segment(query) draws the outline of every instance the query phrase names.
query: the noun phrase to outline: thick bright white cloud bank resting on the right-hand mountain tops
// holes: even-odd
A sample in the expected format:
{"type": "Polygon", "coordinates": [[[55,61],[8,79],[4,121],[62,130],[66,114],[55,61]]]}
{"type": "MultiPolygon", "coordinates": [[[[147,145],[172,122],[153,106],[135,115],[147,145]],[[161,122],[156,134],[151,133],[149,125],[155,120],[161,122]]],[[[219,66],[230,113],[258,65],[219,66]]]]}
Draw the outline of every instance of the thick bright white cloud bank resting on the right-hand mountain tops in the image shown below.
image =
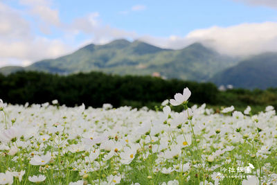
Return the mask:
{"type": "Polygon", "coordinates": [[[221,53],[249,55],[277,51],[277,23],[240,24],[227,28],[211,27],[195,30],[187,39],[202,41],[221,53]]]}

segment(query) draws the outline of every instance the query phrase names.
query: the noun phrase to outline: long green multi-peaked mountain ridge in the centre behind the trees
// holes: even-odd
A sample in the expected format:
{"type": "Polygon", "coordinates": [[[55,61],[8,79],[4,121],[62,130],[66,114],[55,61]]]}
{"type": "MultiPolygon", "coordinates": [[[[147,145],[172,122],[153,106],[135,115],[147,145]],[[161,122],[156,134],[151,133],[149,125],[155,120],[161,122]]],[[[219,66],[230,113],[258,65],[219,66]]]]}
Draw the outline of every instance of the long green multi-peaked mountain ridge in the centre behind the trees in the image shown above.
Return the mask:
{"type": "Polygon", "coordinates": [[[62,74],[103,71],[120,75],[157,72],[166,78],[205,81],[236,62],[237,59],[220,55],[199,43],[171,50],[118,39],[105,45],[89,44],[70,55],[35,62],[25,70],[62,74]]]}

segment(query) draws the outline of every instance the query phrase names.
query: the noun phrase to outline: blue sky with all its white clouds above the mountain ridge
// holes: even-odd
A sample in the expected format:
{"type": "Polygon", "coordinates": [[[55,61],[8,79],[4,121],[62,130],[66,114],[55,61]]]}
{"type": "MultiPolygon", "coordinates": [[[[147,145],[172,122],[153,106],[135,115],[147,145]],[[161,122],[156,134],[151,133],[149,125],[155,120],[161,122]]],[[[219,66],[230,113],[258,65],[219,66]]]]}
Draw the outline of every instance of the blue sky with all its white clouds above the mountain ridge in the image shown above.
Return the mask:
{"type": "Polygon", "coordinates": [[[0,1],[0,66],[27,65],[89,44],[141,39],[181,49],[202,42],[227,55],[276,51],[275,0],[0,1]],[[238,49],[239,48],[239,49],[238,49]]]}

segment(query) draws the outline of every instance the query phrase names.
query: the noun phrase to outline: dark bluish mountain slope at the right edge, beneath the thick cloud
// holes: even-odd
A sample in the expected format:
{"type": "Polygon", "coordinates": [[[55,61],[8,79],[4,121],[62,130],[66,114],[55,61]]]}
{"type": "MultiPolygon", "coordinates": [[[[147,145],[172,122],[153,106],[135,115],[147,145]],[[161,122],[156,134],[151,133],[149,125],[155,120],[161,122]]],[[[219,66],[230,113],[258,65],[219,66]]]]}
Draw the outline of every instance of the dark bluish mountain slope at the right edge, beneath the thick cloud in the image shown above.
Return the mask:
{"type": "Polygon", "coordinates": [[[263,53],[221,71],[211,82],[248,89],[277,87],[277,53],[263,53]]]}

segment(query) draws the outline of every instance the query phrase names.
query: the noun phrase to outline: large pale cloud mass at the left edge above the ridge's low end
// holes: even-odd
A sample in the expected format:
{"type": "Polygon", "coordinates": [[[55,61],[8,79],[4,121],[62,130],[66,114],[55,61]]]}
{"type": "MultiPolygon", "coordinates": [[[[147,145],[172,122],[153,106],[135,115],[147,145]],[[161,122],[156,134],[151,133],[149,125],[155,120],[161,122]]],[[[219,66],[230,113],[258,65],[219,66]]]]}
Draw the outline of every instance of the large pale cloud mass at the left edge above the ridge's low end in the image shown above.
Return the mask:
{"type": "Polygon", "coordinates": [[[35,35],[20,11],[0,2],[0,66],[30,64],[30,61],[55,58],[71,48],[58,39],[35,35]]]}

